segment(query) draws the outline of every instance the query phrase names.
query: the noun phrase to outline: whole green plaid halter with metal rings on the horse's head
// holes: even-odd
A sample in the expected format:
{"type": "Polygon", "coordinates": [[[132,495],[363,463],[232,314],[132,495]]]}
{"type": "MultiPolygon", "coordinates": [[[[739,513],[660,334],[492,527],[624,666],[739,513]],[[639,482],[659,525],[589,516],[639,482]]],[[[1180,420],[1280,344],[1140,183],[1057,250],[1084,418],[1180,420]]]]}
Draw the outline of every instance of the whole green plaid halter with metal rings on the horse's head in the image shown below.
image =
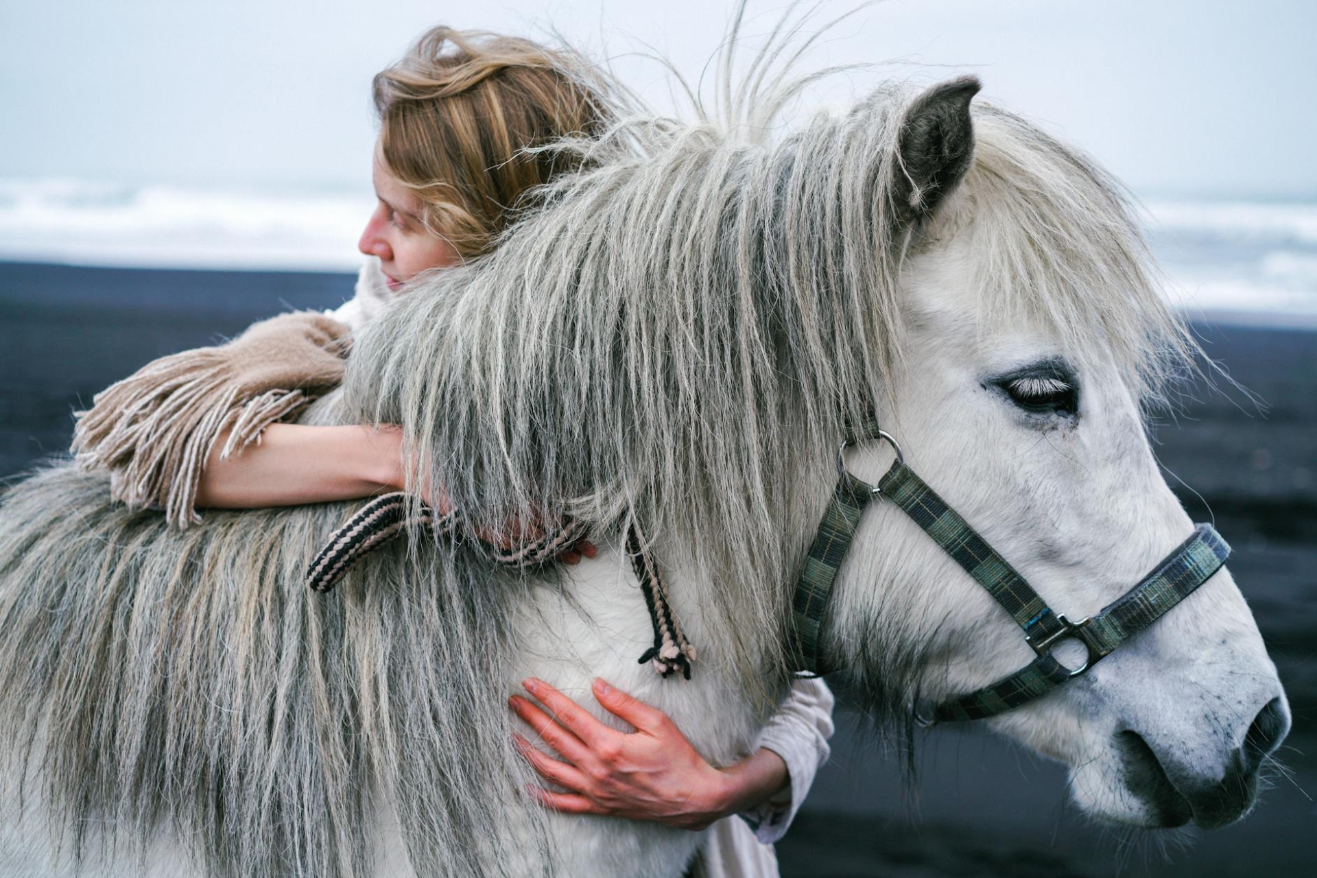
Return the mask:
{"type": "Polygon", "coordinates": [[[1160,619],[1206,582],[1230,554],[1230,546],[1209,524],[1198,524],[1179,549],[1152,573],[1096,616],[1072,623],[1052,612],[1019,573],[905,465],[901,446],[869,419],[855,438],[842,442],[836,458],[838,484],[814,534],[805,569],[792,599],[795,658],[809,674],[827,673],[820,654],[822,623],[838,569],[846,557],[865,507],[881,495],[896,503],[951,555],[1025,631],[1025,642],[1038,654],[1030,665],[996,683],[940,704],[917,706],[921,725],[996,716],[1042,698],[1062,683],[1084,674],[1122,641],[1160,619]],[[846,469],[846,449],[867,438],[882,440],[896,450],[896,461],[877,486],[846,469]],[[1077,640],[1087,650],[1084,663],[1067,667],[1052,657],[1063,640],[1077,640]]]}

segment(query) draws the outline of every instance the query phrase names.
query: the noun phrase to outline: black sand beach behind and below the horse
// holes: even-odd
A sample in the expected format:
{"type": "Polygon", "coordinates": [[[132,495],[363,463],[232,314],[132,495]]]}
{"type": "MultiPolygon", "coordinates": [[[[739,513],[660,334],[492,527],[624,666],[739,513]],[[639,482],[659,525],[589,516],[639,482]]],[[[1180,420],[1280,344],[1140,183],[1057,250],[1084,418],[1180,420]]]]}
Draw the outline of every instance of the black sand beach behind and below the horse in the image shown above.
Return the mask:
{"type": "MultiPolygon", "coordinates": [[[[63,454],[70,412],[162,354],[254,319],[329,308],[350,276],[71,269],[0,262],[0,478],[63,454]]],[[[1295,713],[1293,782],[1247,820],[1167,841],[1093,827],[1063,771],[982,729],[923,736],[918,781],[843,710],[834,758],[778,846],[784,875],[1317,875],[1317,332],[1198,325],[1210,355],[1266,400],[1198,388],[1159,455],[1196,520],[1214,515],[1295,713]],[[1210,509],[1210,511],[1209,511],[1210,509]],[[1304,790],[1308,792],[1305,794],[1304,790]]]]}

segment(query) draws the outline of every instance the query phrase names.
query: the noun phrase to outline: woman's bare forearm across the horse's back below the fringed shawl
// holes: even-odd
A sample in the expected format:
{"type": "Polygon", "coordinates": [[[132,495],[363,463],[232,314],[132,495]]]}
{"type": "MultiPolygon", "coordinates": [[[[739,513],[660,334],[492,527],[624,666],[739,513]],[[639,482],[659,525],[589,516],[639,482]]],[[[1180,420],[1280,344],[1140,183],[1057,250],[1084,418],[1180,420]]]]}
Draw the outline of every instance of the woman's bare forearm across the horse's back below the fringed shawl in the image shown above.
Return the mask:
{"type": "Polygon", "coordinates": [[[402,430],[395,426],[270,424],[259,444],[221,457],[227,441],[221,434],[202,471],[199,507],[329,503],[403,487],[402,430]]]}

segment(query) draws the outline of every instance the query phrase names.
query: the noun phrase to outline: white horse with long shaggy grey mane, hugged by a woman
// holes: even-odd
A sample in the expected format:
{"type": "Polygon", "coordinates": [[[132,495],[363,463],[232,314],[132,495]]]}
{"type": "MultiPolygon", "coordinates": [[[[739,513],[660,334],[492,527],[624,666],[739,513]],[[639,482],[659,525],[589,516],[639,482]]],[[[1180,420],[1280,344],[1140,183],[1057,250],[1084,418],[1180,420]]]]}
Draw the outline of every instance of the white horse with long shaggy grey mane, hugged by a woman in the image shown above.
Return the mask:
{"type": "MultiPolygon", "coordinates": [[[[358,340],[309,417],[402,424],[471,528],[564,508],[608,544],[643,524],[699,650],[689,681],[636,662],[651,627],[615,538],[536,575],[416,538],[321,596],[304,569],[344,505],[176,533],[70,467],[9,491],[0,871],[681,875],[698,833],[519,798],[504,699],[533,674],[593,704],[601,675],[714,763],[741,756],[789,681],[838,442],[871,408],[1052,607],[1123,594],[1191,532],[1141,407],[1192,344],[1115,186],[976,91],[884,87],[776,143],[651,120],[586,145],[494,255],[358,340]]],[[[897,728],[1033,657],[882,500],[823,634],[897,728]]],[[[989,724],[1067,763],[1084,813],[1216,827],[1251,808],[1289,717],[1221,570],[989,724]]]]}

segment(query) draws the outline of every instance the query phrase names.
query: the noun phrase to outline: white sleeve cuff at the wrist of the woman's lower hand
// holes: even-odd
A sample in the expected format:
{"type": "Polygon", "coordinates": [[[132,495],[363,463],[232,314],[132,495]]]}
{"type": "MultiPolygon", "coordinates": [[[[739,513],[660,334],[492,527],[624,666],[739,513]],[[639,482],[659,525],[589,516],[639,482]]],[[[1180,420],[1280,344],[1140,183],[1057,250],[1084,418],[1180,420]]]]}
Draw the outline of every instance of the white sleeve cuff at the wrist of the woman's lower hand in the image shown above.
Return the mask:
{"type": "Polygon", "coordinates": [[[786,835],[814,785],[814,774],[827,762],[832,704],[832,691],[823,681],[798,679],[755,741],[755,749],[765,748],[782,757],[790,775],[790,785],[781,799],[770,799],[740,815],[764,844],[773,844],[786,835]]]}

